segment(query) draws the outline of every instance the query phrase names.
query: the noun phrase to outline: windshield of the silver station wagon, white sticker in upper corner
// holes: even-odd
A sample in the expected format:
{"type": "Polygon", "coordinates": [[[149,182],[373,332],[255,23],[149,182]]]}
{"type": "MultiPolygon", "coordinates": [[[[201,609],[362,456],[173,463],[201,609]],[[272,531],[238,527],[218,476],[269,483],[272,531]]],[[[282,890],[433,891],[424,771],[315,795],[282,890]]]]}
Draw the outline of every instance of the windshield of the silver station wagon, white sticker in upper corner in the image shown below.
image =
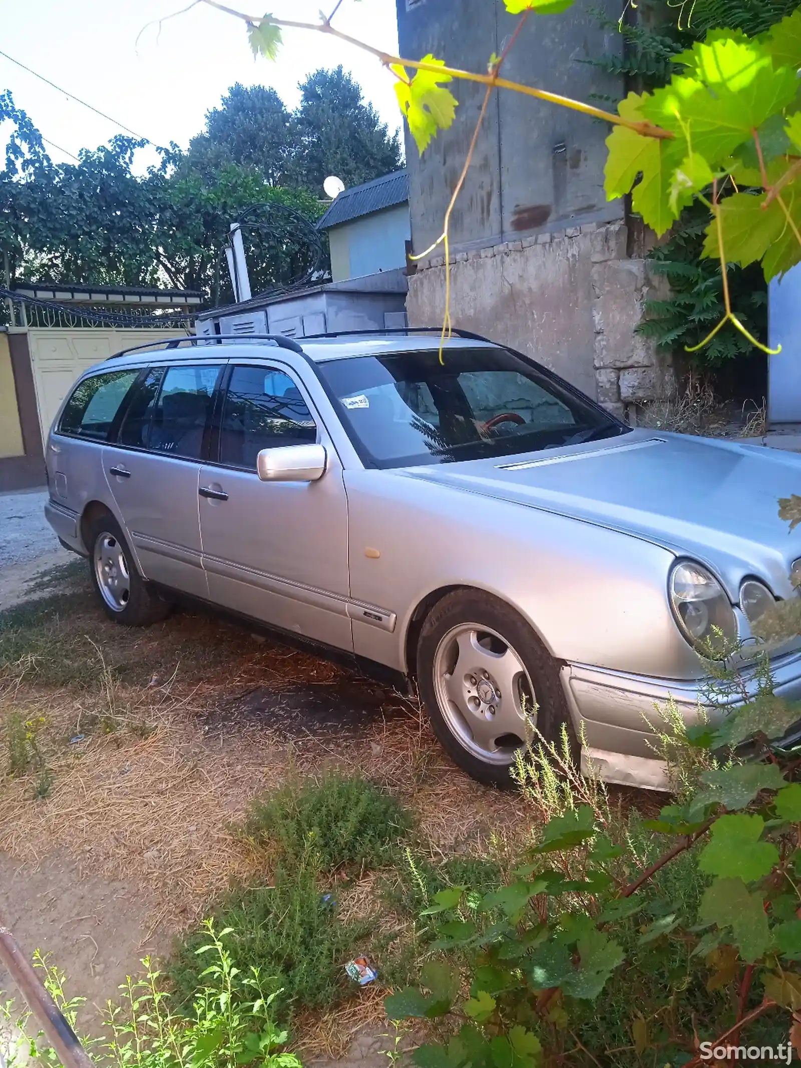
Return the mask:
{"type": "Polygon", "coordinates": [[[317,366],[368,467],[509,456],[625,434],[581,394],[503,348],[362,356],[317,366]]]}

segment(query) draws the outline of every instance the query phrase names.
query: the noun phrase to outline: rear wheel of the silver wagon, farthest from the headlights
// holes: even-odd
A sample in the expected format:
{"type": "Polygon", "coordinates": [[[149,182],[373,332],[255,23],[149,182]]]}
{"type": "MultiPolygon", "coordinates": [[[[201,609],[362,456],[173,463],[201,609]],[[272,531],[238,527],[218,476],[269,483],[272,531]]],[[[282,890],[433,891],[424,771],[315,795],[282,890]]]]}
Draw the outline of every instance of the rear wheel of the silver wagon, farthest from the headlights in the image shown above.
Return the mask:
{"type": "Polygon", "coordinates": [[[87,544],[92,583],[110,619],[126,627],[147,627],[170,613],[170,602],[139,574],[111,513],[93,520],[87,544]]]}

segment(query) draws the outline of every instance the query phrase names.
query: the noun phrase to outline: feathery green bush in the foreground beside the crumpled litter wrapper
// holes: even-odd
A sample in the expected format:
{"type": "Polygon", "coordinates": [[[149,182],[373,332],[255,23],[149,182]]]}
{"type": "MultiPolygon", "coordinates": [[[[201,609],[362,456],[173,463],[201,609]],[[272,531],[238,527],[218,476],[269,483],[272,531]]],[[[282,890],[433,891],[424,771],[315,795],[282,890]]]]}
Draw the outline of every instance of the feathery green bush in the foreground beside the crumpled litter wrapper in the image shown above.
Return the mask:
{"type": "MultiPolygon", "coordinates": [[[[237,960],[269,980],[282,1020],[299,1007],[328,1006],[347,994],[344,965],[371,926],[339,918],[335,892],[329,896],[310,859],[292,869],[280,867],[272,886],[234,891],[216,910],[214,923],[231,929],[237,960]]],[[[170,968],[184,1010],[201,985],[204,964],[197,954],[205,941],[204,929],[185,937],[170,968]]]]}

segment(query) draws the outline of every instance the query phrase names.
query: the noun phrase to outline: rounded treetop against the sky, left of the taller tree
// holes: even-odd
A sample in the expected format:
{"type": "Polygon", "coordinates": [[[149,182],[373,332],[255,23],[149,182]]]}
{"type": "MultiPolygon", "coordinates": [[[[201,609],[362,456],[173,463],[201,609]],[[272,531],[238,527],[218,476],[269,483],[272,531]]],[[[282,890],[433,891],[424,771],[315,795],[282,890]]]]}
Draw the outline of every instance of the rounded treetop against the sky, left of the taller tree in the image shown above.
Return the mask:
{"type": "Polygon", "coordinates": [[[225,163],[255,167],[268,184],[287,184],[293,145],[290,115],[274,89],[232,85],[206,112],[206,129],[189,142],[189,162],[207,174],[225,163]]]}

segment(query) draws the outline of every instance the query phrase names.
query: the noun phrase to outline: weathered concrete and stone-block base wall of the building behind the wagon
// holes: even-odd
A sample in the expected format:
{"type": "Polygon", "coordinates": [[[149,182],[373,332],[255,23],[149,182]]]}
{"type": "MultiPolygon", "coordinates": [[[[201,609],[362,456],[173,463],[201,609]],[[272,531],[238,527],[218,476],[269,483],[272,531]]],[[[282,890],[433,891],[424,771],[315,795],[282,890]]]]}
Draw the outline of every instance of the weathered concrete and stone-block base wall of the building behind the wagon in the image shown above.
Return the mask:
{"type": "MultiPolygon", "coordinates": [[[[527,352],[610,411],[662,398],[670,361],[634,333],[646,299],[662,295],[646,261],[626,254],[623,222],[590,223],[458,252],[451,264],[451,319],[527,352]]],[[[409,278],[410,326],[438,326],[444,257],[409,278]]]]}

